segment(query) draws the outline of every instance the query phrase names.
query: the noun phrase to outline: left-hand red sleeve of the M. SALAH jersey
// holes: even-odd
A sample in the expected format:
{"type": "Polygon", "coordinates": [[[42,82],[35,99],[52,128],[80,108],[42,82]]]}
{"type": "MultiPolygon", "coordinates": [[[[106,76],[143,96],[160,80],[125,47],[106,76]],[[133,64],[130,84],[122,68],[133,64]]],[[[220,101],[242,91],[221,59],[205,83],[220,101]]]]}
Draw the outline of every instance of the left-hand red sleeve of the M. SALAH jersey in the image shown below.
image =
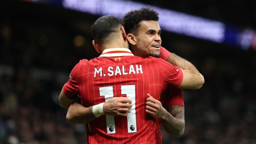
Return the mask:
{"type": "Polygon", "coordinates": [[[73,70],[70,73],[69,80],[67,83],[65,83],[63,87],[63,91],[65,96],[72,100],[79,94],[79,71],[80,71],[80,65],[84,62],[88,61],[86,59],[80,60],[78,64],[73,68],[73,70]]]}

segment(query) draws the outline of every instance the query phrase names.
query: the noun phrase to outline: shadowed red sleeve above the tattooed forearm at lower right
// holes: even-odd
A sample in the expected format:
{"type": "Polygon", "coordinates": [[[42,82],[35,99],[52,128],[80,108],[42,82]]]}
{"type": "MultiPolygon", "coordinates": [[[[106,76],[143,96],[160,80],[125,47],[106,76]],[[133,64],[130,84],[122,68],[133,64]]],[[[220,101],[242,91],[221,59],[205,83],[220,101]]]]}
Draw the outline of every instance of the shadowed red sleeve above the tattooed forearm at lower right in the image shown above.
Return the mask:
{"type": "Polygon", "coordinates": [[[164,107],[167,108],[172,105],[184,106],[183,89],[182,88],[168,86],[168,92],[167,92],[164,107]]]}

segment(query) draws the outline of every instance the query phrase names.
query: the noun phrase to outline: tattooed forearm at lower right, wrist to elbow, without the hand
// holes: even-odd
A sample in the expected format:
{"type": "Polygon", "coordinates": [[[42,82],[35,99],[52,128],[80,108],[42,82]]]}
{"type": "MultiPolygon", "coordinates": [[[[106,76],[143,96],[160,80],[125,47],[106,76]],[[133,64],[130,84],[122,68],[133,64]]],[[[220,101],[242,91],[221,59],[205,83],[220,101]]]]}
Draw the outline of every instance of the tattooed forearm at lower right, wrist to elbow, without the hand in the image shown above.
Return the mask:
{"type": "Polygon", "coordinates": [[[166,109],[164,118],[160,118],[164,129],[171,135],[180,137],[184,133],[185,118],[184,106],[173,105],[166,109]]]}

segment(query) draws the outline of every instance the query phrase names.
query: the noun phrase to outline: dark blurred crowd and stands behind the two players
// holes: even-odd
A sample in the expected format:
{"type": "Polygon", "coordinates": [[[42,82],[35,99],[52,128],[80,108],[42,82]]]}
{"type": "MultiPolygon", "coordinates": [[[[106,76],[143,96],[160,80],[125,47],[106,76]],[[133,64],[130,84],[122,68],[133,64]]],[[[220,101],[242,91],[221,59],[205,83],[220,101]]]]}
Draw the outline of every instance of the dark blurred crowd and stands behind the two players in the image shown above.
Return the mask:
{"type": "MultiPolygon", "coordinates": [[[[147,2],[256,28],[253,0],[178,1],[147,2]]],[[[87,144],[85,125],[67,124],[58,97],[73,66],[99,56],[90,32],[98,17],[19,0],[1,0],[0,12],[0,144],[87,144]]],[[[184,135],[161,129],[163,144],[256,144],[256,51],[165,31],[161,38],[205,77],[201,89],[183,91],[184,135]]]]}

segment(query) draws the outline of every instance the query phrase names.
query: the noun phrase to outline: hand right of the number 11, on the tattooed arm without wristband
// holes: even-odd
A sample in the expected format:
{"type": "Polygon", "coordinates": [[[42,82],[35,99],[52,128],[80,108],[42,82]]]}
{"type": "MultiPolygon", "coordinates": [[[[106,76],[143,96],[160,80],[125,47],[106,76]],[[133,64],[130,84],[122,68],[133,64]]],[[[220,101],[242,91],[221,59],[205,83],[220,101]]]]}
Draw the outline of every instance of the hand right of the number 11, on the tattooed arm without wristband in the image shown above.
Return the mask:
{"type": "Polygon", "coordinates": [[[146,113],[153,116],[154,118],[160,118],[164,116],[167,112],[163,107],[160,101],[154,99],[152,96],[147,94],[146,99],[146,113]]]}

